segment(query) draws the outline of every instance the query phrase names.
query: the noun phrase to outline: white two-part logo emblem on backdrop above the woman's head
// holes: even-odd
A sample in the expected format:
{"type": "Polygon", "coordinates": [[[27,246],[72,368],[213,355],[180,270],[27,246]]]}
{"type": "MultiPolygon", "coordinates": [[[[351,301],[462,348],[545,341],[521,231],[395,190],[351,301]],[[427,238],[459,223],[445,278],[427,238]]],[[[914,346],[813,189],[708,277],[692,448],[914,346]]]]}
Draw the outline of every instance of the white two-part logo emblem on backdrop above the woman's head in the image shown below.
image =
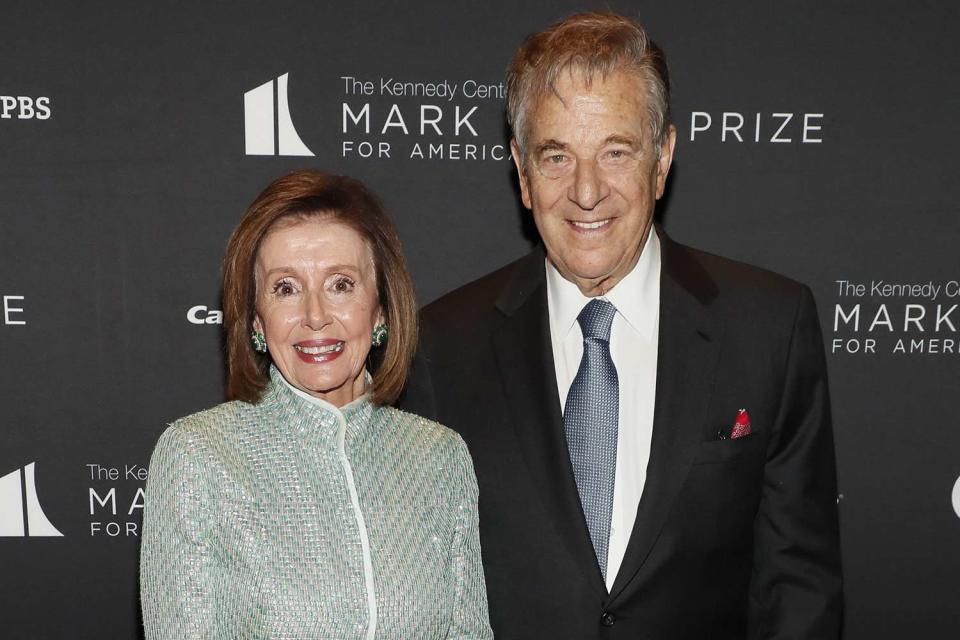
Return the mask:
{"type": "Polygon", "coordinates": [[[290,119],[287,76],[277,77],[243,94],[243,125],[248,156],[312,156],[290,119]],[[274,95],[277,109],[274,111],[274,95]],[[276,125],[276,139],[274,138],[276,125]]]}

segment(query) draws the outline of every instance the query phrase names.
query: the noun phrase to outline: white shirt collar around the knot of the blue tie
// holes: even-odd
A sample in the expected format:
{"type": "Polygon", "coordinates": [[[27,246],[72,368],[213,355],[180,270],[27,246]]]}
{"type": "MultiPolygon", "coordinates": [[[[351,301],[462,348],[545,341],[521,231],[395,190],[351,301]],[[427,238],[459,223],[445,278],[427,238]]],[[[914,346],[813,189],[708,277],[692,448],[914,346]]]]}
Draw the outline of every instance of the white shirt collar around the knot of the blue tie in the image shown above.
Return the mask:
{"type": "MultiPolygon", "coordinates": [[[[590,302],[577,285],[565,279],[549,258],[547,269],[547,304],[550,318],[560,337],[566,337],[577,316],[590,302]]],[[[653,227],[640,252],[637,264],[606,295],[627,324],[641,337],[652,340],[657,324],[660,301],[660,239],[653,227]]]]}

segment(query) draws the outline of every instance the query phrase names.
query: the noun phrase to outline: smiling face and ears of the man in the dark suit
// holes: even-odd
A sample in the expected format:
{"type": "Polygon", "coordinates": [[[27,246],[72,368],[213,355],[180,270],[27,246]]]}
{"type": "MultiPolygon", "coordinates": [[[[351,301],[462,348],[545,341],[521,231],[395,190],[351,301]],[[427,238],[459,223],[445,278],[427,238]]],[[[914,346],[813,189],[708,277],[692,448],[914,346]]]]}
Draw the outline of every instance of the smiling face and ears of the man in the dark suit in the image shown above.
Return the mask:
{"type": "Polygon", "coordinates": [[[658,159],[646,88],[634,73],[597,77],[589,87],[579,74],[563,74],[555,88],[530,114],[526,158],[511,144],[520,192],[560,274],[585,295],[602,295],[640,258],[676,131],[670,127],[658,159]]]}

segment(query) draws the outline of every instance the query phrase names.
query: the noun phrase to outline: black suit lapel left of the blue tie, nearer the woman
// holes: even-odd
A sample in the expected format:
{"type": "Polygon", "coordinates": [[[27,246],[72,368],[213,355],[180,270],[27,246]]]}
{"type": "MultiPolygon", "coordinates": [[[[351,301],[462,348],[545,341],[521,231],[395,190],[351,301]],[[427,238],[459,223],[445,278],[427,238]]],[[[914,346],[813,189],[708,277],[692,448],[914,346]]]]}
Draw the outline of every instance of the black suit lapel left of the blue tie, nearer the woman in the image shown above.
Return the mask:
{"type": "Polygon", "coordinates": [[[563,431],[542,250],[518,265],[497,308],[506,319],[493,333],[493,349],[520,452],[566,551],[598,595],[605,595],[563,431]]]}

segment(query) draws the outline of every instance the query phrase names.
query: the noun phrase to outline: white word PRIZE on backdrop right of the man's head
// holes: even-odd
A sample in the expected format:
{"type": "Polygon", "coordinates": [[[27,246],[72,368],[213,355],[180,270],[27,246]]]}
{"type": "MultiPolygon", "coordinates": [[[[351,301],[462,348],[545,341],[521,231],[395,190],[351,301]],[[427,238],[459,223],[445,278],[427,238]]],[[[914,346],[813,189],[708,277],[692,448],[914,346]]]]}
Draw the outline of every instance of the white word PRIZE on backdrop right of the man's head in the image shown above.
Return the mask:
{"type": "Polygon", "coordinates": [[[706,111],[690,114],[690,142],[697,134],[720,142],[781,143],[823,142],[822,113],[739,113],[724,111],[711,115],[706,111]],[[712,135],[710,135],[712,134],[712,135]]]}

